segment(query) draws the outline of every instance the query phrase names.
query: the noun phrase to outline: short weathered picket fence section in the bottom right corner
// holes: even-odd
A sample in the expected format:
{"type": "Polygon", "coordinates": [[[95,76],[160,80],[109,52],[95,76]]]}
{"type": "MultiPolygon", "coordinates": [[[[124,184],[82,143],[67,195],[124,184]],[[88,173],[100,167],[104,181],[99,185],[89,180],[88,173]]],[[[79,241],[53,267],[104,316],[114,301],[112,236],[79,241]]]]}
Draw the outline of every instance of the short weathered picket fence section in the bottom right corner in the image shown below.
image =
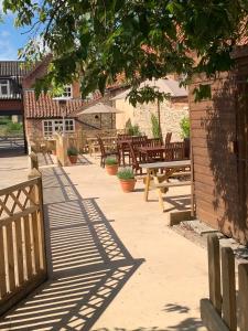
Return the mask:
{"type": "Polygon", "coordinates": [[[235,256],[230,247],[222,247],[216,235],[209,235],[209,299],[201,300],[201,316],[209,331],[248,330],[248,264],[238,266],[238,300],[236,300],[235,256]],[[222,268],[220,268],[222,265],[222,268]],[[222,273],[220,273],[222,269],[222,273]],[[237,301],[237,302],[236,302],[237,301]],[[238,307],[238,313],[237,313],[238,307]]]}

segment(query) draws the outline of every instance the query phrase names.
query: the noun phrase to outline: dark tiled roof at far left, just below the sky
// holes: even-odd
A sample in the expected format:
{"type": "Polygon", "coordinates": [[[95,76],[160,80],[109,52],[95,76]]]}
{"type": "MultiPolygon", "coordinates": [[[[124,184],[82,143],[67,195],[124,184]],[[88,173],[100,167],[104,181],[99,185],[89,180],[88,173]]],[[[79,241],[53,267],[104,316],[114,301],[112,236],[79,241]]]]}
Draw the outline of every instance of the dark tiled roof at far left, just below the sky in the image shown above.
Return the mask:
{"type": "Polygon", "coordinates": [[[0,61],[0,77],[25,76],[28,72],[24,61],[0,61]]]}

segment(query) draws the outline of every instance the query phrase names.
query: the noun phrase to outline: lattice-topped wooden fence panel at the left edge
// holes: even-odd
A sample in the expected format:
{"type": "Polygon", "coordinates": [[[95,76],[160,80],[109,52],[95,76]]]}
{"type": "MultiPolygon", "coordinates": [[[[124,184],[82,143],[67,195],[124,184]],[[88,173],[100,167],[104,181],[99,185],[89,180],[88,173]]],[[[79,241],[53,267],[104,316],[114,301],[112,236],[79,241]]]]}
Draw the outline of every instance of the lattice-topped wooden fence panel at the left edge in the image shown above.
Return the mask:
{"type": "Polygon", "coordinates": [[[46,279],[42,180],[0,190],[0,314],[46,279]]]}

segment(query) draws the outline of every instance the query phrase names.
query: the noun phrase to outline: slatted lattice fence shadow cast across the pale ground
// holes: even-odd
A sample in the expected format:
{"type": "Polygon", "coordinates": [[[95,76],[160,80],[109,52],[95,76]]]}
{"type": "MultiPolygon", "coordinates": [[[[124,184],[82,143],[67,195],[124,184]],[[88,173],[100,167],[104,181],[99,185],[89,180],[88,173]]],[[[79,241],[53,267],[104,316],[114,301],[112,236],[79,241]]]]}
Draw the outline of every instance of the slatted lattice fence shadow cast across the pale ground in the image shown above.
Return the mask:
{"type": "Polygon", "coordinates": [[[90,330],[142,263],[62,168],[42,170],[48,281],[0,322],[0,330],[90,330]]]}

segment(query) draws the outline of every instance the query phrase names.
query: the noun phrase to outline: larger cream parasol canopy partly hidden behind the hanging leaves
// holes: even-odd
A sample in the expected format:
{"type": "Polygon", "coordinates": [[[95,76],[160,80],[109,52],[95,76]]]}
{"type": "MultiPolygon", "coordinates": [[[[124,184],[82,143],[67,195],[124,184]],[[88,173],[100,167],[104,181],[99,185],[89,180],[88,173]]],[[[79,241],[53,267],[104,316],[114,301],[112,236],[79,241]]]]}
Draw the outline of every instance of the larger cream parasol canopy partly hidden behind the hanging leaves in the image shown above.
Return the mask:
{"type": "MultiPolygon", "coordinates": [[[[159,92],[161,93],[169,93],[172,97],[186,97],[187,90],[184,87],[180,86],[180,82],[174,79],[152,79],[145,81],[140,84],[140,87],[150,86],[150,87],[158,87],[159,92]]],[[[112,98],[112,100],[123,99],[127,97],[131,89],[127,89],[123,93],[118,94],[112,98]]]]}

